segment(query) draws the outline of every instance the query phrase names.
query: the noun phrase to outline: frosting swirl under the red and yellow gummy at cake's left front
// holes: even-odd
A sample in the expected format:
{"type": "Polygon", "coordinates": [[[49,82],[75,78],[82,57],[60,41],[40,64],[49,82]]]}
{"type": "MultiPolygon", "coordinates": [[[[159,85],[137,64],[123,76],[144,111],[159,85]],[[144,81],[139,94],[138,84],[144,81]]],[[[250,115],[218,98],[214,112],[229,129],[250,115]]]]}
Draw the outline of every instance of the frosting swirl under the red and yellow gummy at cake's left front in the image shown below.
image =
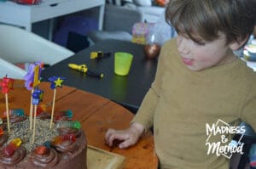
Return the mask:
{"type": "Polygon", "coordinates": [[[22,161],[22,159],[26,156],[26,149],[23,146],[20,146],[15,150],[14,155],[5,155],[3,153],[3,149],[1,149],[0,153],[0,162],[7,166],[13,166],[18,162],[22,161]]]}

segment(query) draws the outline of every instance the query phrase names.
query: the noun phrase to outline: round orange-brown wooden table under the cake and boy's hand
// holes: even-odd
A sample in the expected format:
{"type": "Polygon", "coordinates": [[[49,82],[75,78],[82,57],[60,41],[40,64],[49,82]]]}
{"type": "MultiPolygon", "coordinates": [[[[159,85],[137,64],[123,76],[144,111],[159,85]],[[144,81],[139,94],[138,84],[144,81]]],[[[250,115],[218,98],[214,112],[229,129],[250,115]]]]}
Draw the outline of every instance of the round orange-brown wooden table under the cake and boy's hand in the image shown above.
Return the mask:
{"type": "MultiPolygon", "coordinates": [[[[47,110],[50,112],[53,90],[49,88],[49,82],[41,82],[39,87],[44,90],[42,104],[49,105],[47,110]]],[[[24,109],[26,113],[29,112],[30,94],[31,92],[24,87],[23,81],[15,81],[15,90],[9,92],[9,109],[24,109]]],[[[73,110],[73,119],[81,122],[88,144],[124,155],[125,169],[157,168],[158,159],[154,154],[151,132],[146,132],[140,141],[129,149],[110,148],[105,144],[104,135],[109,127],[122,129],[129,126],[133,117],[129,110],[109,99],[67,86],[57,88],[55,111],[61,110],[73,110]]],[[[0,111],[5,111],[5,98],[2,93],[0,111]]]]}

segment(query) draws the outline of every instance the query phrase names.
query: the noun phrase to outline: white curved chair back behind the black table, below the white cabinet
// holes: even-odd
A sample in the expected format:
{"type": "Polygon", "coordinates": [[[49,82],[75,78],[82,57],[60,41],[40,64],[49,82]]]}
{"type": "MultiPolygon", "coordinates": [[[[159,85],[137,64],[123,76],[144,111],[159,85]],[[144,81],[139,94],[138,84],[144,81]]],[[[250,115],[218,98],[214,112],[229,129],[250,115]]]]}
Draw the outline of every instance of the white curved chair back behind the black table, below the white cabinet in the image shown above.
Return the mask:
{"type": "Polygon", "coordinates": [[[12,64],[42,61],[54,65],[73,54],[67,48],[32,32],[11,25],[0,25],[0,57],[12,64]]]}

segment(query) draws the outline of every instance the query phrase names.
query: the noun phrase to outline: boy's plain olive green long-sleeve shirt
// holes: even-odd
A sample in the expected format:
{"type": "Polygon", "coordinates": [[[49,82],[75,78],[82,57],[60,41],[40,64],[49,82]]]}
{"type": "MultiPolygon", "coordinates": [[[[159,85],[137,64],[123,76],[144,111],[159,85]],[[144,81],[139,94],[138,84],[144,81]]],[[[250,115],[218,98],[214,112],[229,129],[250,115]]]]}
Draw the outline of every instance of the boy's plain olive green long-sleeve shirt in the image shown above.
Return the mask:
{"type": "MultiPolygon", "coordinates": [[[[245,62],[236,59],[206,70],[189,70],[173,39],[162,47],[154,82],[132,122],[154,126],[161,168],[228,169],[226,154],[211,151],[208,155],[206,143],[228,144],[234,133],[210,136],[207,124],[212,127],[221,120],[236,127],[245,121],[256,128],[255,113],[256,74],[245,62]]],[[[216,126],[227,127],[224,122],[216,126]]]]}

